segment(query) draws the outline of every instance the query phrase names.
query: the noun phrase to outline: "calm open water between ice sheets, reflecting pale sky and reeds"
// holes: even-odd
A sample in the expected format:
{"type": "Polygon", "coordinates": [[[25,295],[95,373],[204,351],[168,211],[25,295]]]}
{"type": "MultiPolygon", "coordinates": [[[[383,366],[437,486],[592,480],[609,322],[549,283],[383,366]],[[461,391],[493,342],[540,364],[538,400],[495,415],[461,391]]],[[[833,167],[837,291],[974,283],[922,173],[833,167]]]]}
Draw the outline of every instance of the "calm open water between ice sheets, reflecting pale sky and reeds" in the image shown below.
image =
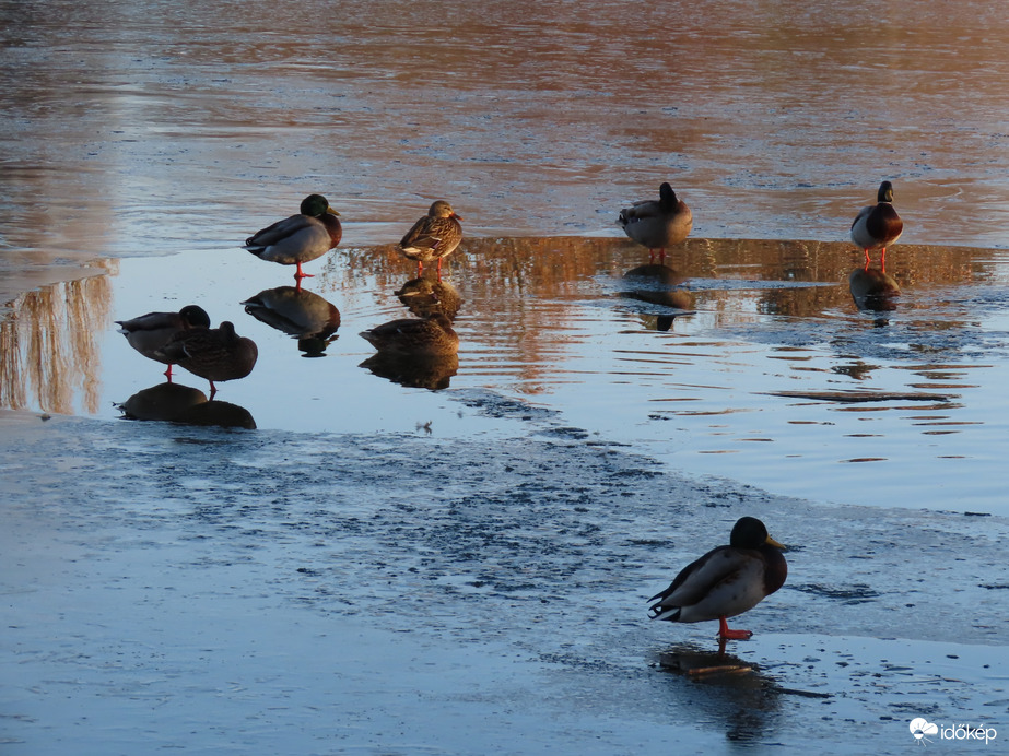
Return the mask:
{"type": "MultiPolygon", "coordinates": [[[[260,428],[493,434],[506,421],[467,407],[492,390],[673,470],[823,501],[1009,512],[1004,253],[897,247],[887,310],[856,307],[847,245],[694,239],[667,259],[671,291],[625,277],[647,257],[615,239],[474,239],[438,282],[411,279],[389,247],[340,249],[307,267],[302,298],[339,310],[312,346],[240,304],[292,294],[289,269],[239,249],[121,260],[22,302],[3,326],[0,399],[119,417],[163,367],[110,321],[195,303],[257,342],[253,375],[216,398],[260,428]],[[403,300],[454,314],[457,361],[369,369],[357,334],[411,315],[403,300]]],[[[209,391],[185,371],[176,382],[209,391]]]]}

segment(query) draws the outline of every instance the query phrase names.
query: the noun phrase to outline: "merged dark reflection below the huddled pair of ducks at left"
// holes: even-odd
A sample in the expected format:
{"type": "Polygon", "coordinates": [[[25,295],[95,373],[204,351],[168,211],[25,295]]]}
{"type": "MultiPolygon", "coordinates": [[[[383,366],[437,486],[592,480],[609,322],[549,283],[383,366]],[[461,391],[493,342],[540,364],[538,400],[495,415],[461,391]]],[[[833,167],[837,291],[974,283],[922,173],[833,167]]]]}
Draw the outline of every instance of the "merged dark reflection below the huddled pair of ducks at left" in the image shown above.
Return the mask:
{"type": "Polygon", "coordinates": [[[159,383],[142,389],[118,405],[127,420],[162,421],[255,429],[256,421],[243,406],[208,400],[199,389],[180,383],[159,383]]]}

